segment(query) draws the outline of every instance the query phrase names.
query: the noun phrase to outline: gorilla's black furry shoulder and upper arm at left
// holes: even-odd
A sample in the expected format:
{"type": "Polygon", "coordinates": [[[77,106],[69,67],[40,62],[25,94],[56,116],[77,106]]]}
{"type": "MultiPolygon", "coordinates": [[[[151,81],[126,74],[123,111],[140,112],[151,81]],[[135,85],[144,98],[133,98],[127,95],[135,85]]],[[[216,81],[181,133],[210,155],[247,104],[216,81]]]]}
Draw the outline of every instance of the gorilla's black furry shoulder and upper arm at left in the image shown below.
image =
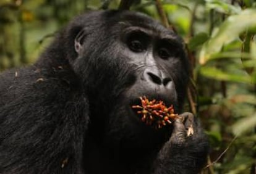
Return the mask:
{"type": "Polygon", "coordinates": [[[67,75],[35,67],[2,74],[0,173],[82,173],[88,104],[67,75]]]}

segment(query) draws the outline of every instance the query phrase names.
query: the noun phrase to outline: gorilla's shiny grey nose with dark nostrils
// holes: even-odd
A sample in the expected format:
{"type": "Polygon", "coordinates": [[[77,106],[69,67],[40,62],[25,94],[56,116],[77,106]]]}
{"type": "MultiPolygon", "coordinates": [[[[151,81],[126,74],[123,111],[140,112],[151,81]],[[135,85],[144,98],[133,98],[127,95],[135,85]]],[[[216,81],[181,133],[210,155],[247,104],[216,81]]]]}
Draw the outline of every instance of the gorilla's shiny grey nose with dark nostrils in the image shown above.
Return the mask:
{"type": "Polygon", "coordinates": [[[160,72],[159,70],[145,70],[143,74],[144,78],[148,83],[151,83],[152,85],[163,85],[164,88],[171,88],[171,78],[165,77],[163,72],[160,72]]]}

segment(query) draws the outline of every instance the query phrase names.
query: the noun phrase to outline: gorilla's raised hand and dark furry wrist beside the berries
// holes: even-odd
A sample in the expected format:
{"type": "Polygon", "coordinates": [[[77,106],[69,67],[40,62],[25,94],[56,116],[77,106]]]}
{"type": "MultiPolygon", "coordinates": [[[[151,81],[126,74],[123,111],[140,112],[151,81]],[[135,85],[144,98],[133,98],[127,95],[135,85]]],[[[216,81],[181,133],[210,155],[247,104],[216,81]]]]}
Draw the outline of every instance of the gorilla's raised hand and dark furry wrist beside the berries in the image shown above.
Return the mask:
{"type": "Polygon", "coordinates": [[[153,173],[198,173],[208,152],[207,138],[193,114],[179,115],[173,133],[158,153],[153,173]]]}

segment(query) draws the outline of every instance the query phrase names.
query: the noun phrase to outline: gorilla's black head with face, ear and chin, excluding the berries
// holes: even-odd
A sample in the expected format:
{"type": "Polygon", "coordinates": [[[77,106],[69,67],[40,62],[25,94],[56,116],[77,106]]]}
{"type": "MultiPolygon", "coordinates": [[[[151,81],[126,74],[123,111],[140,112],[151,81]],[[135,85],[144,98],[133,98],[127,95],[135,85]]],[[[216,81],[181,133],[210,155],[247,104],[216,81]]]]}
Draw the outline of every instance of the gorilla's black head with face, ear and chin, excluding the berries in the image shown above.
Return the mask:
{"type": "Polygon", "coordinates": [[[159,144],[168,129],[146,126],[131,106],[147,96],[181,111],[189,74],[181,38],[142,14],[98,15],[100,25],[86,21],[77,35],[74,62],[89,97],[93,133],[111,147],[159,144]]]}

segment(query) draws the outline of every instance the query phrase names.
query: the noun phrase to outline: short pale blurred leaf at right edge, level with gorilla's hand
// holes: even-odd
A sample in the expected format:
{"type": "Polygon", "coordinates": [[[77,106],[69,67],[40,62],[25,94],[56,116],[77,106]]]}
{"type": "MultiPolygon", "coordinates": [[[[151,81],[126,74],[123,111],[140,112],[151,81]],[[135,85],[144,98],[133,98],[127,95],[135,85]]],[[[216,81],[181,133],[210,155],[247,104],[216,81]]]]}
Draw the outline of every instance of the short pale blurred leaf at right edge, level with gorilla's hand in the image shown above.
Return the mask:
{"type": "Polygon", "coordinates": [[[256,113],[250,117],[242,118],[232,126],[234,135],[241,135],[256,126],[256,113]]]}

